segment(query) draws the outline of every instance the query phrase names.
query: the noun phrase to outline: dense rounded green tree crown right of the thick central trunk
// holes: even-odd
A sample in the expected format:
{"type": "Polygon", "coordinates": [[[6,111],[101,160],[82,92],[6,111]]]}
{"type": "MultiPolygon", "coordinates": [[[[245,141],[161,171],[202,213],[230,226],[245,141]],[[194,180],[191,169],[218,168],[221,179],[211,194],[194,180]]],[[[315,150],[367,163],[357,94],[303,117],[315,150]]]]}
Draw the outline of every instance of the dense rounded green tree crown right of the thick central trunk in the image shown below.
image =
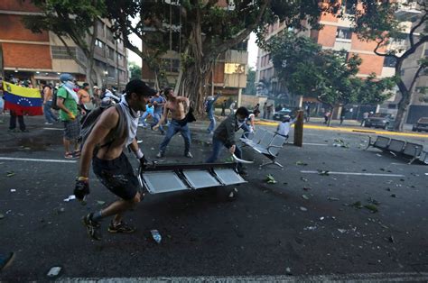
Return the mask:
{"type": "MultiPolygon", "coordinates": [[[[347,57],[347,51],[322,50],[312,39],[294,32],[266,42],[274,68],[284,85],[295,95],[313,96],[330,105],[330,109],[349,103],[382,103],[392,94],[392,78],[357,78],[362,60],[358,55],[347,57]]],[[[330,125],[330,122],[329,122],[330,125]]]]}

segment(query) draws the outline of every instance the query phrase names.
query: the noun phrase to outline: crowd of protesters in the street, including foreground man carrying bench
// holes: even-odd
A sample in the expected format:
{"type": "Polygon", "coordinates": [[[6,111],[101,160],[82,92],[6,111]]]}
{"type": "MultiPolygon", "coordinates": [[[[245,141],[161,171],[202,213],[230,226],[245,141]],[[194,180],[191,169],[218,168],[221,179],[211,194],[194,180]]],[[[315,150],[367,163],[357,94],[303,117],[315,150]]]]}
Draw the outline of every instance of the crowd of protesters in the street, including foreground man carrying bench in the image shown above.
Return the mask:
{"type": "MultiPolygon", "coordinates": [[[[11,82],[22,87],[33,87],[28,82],[11,82]]],[[[88,195],[89,168],[92,163],[93,172],[100,182],[119,198],[106,208],[83,217],[89,236],[95,240],[100,239],[100,221],[108,216],[114,216],[107,229],[110,233],[134,232],[135,228],[123,221],[123,215],[140,202],[144,195],[140,192],[135,170],[124,150],[128,148],[135,154],[141,166],[146,165],[147,160],[139,148],[136,133],[139,127],[148,126],[146,119],[151,117],[150,128],[164,136],[156,154],[157,158],[165,156],[169,142],[179,132],[184,141],[183,156],[193,158],[189,123],[195,121],[195,118],[189,98],[177,96],[171,87],[154,90],[140,79],[131,80],[120,95],[112,88],[93,87],[91,91],[88,83],[79,86],[70,74],[61,74],[60,84],[55,87],[46,81],[40,81],[40,91],[45,123],[63,125],[64,158],[79,159],[75,196],[84,201],[88,195]],[[165,123],[166,130],[163,127],[165,123]]],[[[237,103],[231,101],[227,118],[216,127],[214,104],[220,96],[221,93],[208,96],[204,104],[209,117],[207,134],[212,138],[211,153],[205,160],[207,163],[216,162],[222,148],[242,159],[242,151],[236,143],[235,134],[240,129],[244,131],[245,137],[255,132],[255,120],[260,114],[259,105],[249,113],[246,107],[235,109],[237,103]]],[[[223,102],[222,115],[225,114],[225,108],[226,103],[223,102]]],[[[278,134],[288,136],[293,123],[289,118],[280,123],[278,134]]],[[[13,112],[9,131],[16,127],[16,119],[20,123],[21,131],[26,132],[23,115],[13,112]]],[[[237,171],[241,175],[247,174],[241,163],[237,163],[237,171]]]]}

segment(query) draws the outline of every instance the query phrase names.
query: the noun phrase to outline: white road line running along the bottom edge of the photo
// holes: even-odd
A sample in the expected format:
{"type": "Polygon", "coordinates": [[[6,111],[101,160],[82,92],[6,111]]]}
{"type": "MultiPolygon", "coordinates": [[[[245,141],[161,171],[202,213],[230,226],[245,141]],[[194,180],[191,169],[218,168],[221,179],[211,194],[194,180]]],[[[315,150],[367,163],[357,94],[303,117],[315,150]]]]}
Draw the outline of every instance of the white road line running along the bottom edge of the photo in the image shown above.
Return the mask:
{"type": "Polygon", "coordinates": [[[195,276],[139,278],[60,278],[59,282],[417,282],[426,281],[428,272],[351,273],[338,275],[261,275],[261,276],[195,276]]]}

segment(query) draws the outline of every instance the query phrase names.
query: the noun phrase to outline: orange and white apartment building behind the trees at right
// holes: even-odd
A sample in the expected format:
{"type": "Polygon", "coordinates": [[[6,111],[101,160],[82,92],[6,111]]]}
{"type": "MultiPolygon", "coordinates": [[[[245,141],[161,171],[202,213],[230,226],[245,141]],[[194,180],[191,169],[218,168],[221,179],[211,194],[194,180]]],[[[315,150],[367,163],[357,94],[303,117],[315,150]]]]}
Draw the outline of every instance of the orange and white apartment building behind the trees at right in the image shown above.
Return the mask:
{"type": "MultiPolygon", "coordinates": [[[[342,9],[344,10],[344,13],[347,12],[346,5],[343,5],[342,9]]],[[[409,21],[405,23],[406,33],[409,33],[410,28],[412,27],[412,22],[410,20],[418,13],[420,12],[417,11],[415,6],[409,5],[402,5],[399,11],[397,11],[395,16],[402,17],[403,19],[409,19],[409,21]]],[[[395,59],[391,57],[377,56],[377,54],[374,53],[377,43],[374,41],[360,41],[357,34],[351,32],[351,23],[348,20],[338,18],[334,14],[322,14],[320,17],[320,23],[323,24],[323,28],[320,31],[306,31],[303,32],[303,36],[311,37],[314,41],[319,43],[323,49],[347,50],[350,54],[358,54],[362,59],[362,64],[359,67],[357,75],[359,78],[367,78],[371,73],[375,73],[378,78],[394,76],[395,59]]],[[[269,38],[280,34],[285,28],[284,23],[274,23],[273,25],[270,25],[265,35],[265,39],[268,40],[269,38]]],[[[379,49],[379,52],[385,52],[387,49],[399,49],[400,47],[406,48],[408,44],[408,40],[395,40],[392,41],[390,46],[387,48],[379,49]]],[[[427,55],[428,50],[423,46],[416,50],[411,59],[406,60],[402,70],[402,75],[405,76],[405,81],[413,78],[412,75],[417,69],[417,60],[427,55]]],[[[269,53],[261,49],[259,49],[257,56],[256,85],[258,86],[257,95],[268,96],[269,98],[275,99],[277,103],[288,106],[302,106],[304,104],[311,103],[318,111],[322,108],[322,105],[318,103],[316,98],[294,96],[292,90],[286,89],[286,87],[284,87],[284,85],[281,84],[281,81],[276,77],[274,66],[269,58],[269,53]]],[[[420,78],[417,84],[418,89],[422,89],[426,86],[428,86],[426,77],[420,78]]],[[[397,91],[397,89],[395,89],[395,91],[397,91]]],[[[426,99],[427,101],[428,99],[421,96],[423,95],[414,95],[414,99],[408,113],[408,123],[414,123],[414,120],[417,120],[416,117],[419,117],[422,114],[421,109],[426,107],[426,103],[423,99],[426,99]]],[[[349,115],[349,118],[358,118],[367,110],[395,114],[397,109],[396,105],[399,99],[400,96],[398,93],[383,105],[374,105],[371,107],[349,105],[350,109],[353,109],[354,111],[349,112],[347,115],[349,115]]],[[[338,109],[335,114],[338,115],[339,113],[340,110],[338,109]]]]}

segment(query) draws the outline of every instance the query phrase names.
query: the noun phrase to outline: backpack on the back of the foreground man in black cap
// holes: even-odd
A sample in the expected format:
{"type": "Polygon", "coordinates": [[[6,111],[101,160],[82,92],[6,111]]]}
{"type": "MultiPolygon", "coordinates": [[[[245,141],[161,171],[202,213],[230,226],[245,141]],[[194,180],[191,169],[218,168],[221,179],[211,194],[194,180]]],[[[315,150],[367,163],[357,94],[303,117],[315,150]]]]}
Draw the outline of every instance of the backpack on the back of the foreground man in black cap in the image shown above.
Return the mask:
{"type": "Polygon", "coordinates": [[[107,107],[98,107],[89,114],[87,114],[83,119],[80,121],[81,127],[80,127],[80,135],[78,138],[78,142],[80,144],[80,151],[83,148],[83,145],[85,144],[86,140],[88,140],[88,136],[90,132],[92,132],[92,129],[97,124],[99,117],[105,110],[107,110],[110,107],[116,107],[117,113],[119,114],[119,121],[117,122],[116,128],[114,131],[110,131],[107,134],[107,142],[103,145],[100,145],[96,148],[95,152],[97,152],[100,148],[103,147],[110,147],[113,142],[115,142],[117,137],[123,136],[124,132],[126,131],[126,115],[124,111],[122,110],[122,107],[120,105],[109,105],[107,107]]]}

